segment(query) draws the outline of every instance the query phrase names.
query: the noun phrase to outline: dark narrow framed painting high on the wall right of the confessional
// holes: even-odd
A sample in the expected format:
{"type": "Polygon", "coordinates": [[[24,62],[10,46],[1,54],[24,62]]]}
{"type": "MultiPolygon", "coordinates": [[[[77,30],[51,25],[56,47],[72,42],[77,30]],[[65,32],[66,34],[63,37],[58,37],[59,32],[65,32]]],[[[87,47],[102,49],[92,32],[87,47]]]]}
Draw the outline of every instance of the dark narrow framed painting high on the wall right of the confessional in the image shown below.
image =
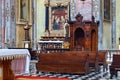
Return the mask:
{"type": "Polygon", "coordinates": [[[110,3],[111,0],[104,0],[104,20],[110,21],[110,3]]]}

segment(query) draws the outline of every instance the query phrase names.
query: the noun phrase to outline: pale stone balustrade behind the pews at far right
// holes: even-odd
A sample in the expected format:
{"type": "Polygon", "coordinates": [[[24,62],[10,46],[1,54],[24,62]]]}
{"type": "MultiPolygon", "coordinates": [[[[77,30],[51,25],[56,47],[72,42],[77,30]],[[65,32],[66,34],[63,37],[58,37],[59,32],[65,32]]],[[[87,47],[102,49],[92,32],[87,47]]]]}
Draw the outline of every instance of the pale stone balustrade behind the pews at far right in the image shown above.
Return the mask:
{"type": "Polygon", "coordinates": [[[112,62],[113,54],[120,54],[119,49],[108,49],[108,50],[99,50],[99,51],[106,51],[107,52],[106,60],[108,63],[112,62]]]}

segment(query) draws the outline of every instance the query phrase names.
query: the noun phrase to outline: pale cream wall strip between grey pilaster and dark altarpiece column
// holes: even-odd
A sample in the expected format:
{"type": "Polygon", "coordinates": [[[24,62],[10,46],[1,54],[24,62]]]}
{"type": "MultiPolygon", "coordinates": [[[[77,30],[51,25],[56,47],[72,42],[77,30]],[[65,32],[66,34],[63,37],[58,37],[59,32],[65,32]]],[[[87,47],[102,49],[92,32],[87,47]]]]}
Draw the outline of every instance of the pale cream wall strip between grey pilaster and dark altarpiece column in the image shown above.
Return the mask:
{"type": "Polygon", "coordinates": [[[45,6],[44,0],[37,0],[37,41],[45,31],[45,6]]]}

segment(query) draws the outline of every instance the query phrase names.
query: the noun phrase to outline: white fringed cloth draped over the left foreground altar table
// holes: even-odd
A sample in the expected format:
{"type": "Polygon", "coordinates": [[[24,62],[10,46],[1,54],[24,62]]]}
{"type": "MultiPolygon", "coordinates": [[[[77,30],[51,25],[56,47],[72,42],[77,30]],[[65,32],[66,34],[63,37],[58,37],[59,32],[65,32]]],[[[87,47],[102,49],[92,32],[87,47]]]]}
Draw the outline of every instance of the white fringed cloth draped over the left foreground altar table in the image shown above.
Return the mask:
{"type": "Polygon", "coordinates": [[[29,73],[30,54],[27,49],[0,49],[0,60],[26,57],[25,73],[29,73]]]}

